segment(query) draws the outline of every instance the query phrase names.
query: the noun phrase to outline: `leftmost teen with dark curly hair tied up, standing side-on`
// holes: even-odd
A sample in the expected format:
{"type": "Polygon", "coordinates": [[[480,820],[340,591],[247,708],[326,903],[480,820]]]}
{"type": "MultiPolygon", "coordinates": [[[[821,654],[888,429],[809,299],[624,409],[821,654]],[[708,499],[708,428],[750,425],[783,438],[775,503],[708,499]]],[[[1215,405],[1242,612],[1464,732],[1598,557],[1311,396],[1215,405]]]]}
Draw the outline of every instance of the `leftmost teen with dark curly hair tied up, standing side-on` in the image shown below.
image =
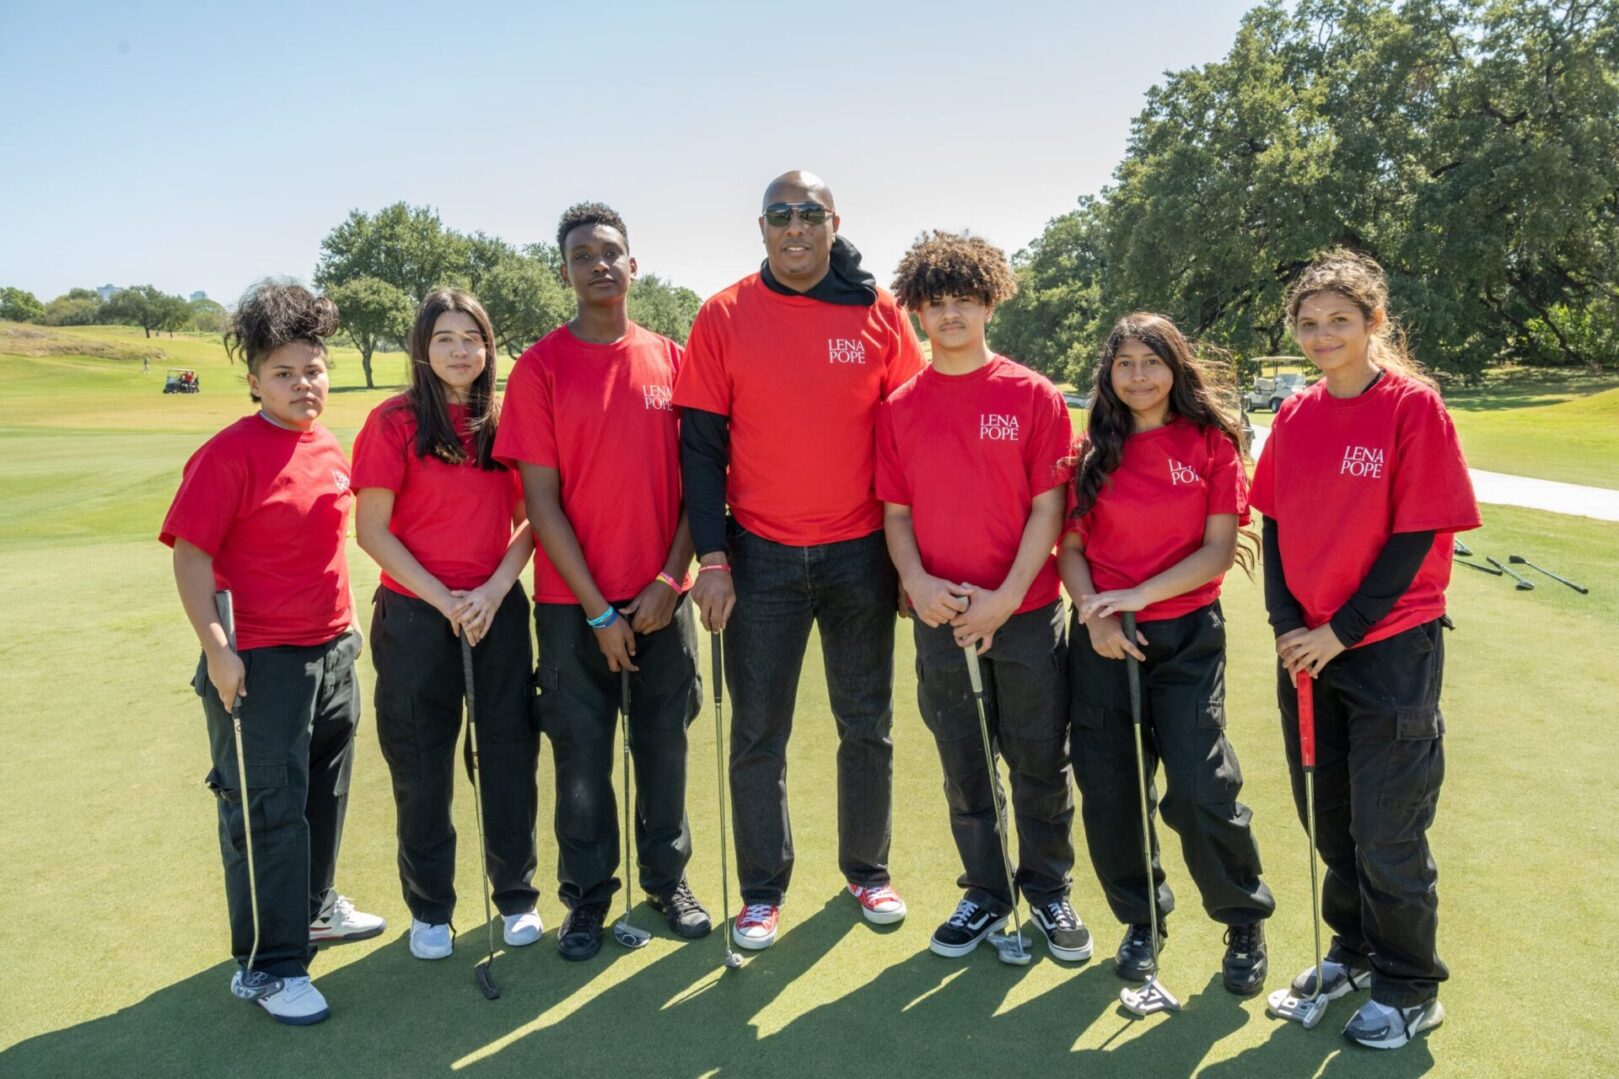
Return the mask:
{"type": "Polygon", "coordinates": [[[295,1026],[330,1014],[309,982],[314,945],[376,936],[385,925],[334,888],[359,721],[343,551],[348,458],[316,423],[329,389],[324,340],[335,329],[332,301],[300,285],[266,282],[243,298],[225,347],[246,363],[259,410],[191,455],[159,536],[175,551],[180,603],[202,643],[191,684],[207,719],[207,783],[241,964],[230,988],[295,1026]],[[220,590],[233,596],[235,642],[215,608],[220,590]],[[236,706],[246,776],[236,768],[236,706]]]}

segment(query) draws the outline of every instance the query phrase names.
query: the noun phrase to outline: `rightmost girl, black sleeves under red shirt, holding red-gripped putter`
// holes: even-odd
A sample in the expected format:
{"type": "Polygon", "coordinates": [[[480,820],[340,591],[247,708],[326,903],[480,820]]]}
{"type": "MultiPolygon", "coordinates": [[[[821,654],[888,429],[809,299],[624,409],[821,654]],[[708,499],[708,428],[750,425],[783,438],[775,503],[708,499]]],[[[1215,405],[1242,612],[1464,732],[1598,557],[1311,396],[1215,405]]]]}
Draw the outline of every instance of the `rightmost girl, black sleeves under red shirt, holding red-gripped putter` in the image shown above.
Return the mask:
{"type": "MultiPolygon", "coordinates": [[[[1387,316],[1371,259],[1334,249],[1287,295],[1287,322],[1326,376],[1289,397],[1253,475],[1276,695],[1305,813],[1298,674],[1316,679],[1316,849],[1332,927],[1321,992],[1371,983],[1344,1027],[1397,1048],[1439,1026],[1438,870],[1444,779],[1444,590],[1452,533],[1478,528],[1455,428],[1387,316]]],[[[1315,969],[1294,980],[1315,990],[1315,969]]]]}

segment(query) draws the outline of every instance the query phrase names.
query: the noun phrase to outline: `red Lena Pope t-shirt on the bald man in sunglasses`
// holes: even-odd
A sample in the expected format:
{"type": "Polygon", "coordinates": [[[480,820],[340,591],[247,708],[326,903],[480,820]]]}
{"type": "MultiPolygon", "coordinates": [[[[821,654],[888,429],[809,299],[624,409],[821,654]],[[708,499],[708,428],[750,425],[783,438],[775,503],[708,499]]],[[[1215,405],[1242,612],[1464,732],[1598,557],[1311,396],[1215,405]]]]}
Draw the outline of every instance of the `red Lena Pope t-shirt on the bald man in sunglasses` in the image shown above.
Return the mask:
{"type": "Polygon", "coordinates": [[[871,306],[772,292],[758,274],[711,296],[686,340],[675,403],[730,418],[730,512],[806,548],[882,527],[877,405],[921,369],[894,296],[871,306]]]}

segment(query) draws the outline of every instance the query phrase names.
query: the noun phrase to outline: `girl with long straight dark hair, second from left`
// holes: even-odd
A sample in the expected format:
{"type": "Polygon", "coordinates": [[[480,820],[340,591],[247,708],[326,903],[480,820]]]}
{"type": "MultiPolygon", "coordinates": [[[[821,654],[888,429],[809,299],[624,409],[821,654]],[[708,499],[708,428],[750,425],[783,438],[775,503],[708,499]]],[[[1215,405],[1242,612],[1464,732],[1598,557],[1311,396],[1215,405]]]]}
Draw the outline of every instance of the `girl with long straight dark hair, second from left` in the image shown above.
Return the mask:
{"type": "MultiPolygon", "coordinates": [[[[455,745],[473,645],[484,799],[482,857],[508,945],[539,940],[534,911],[533,646],[518,575],[534,551],[515,471],[494,460],[495,347],[460,288],[423,300],[410,389],[377,405],[355,441],[359,546],[382,567],[371,658],[377,742],[393,774],[410,951],[444,959],[455,912],[455,745]]],[[[471,740],[463,742],[471,773],[471,740]]]]}

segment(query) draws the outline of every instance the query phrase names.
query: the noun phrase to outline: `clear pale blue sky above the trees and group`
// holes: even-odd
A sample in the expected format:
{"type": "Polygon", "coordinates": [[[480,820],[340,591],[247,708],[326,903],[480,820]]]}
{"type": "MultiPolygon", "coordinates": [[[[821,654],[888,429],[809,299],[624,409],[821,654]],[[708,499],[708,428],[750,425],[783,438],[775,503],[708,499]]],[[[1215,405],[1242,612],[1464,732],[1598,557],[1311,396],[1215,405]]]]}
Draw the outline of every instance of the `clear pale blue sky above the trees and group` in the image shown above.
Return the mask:
{"type": "Polygon", "coordinates": [[[1248,6],[6,0],[0,285],[233,303],[308,279],[356,207],[526,243],[602,199],[643,272],[708,295],[788,168],[886,284],[924,228],[1013,251],[1098,191],[1145,91],[1248,6]]]}

